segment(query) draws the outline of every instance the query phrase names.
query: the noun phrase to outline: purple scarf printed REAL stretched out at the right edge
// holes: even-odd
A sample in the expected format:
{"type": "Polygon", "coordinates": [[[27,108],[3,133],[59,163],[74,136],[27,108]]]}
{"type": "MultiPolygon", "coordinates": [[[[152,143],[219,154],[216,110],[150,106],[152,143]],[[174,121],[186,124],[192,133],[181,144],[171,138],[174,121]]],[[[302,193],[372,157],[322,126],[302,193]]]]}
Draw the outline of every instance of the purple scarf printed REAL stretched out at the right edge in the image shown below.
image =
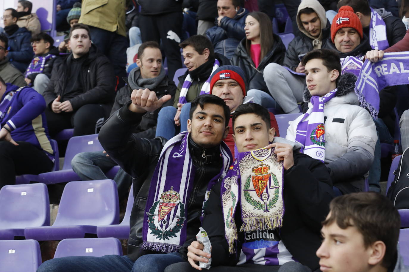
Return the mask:
{"type": "Polygon", "coordinates": [[[355,82],[355,94],[363,108],[378,118],[379,91],[386,86],[409,84],[409,52],[385,53],[382,60],[365,60],[355,82]]]}

